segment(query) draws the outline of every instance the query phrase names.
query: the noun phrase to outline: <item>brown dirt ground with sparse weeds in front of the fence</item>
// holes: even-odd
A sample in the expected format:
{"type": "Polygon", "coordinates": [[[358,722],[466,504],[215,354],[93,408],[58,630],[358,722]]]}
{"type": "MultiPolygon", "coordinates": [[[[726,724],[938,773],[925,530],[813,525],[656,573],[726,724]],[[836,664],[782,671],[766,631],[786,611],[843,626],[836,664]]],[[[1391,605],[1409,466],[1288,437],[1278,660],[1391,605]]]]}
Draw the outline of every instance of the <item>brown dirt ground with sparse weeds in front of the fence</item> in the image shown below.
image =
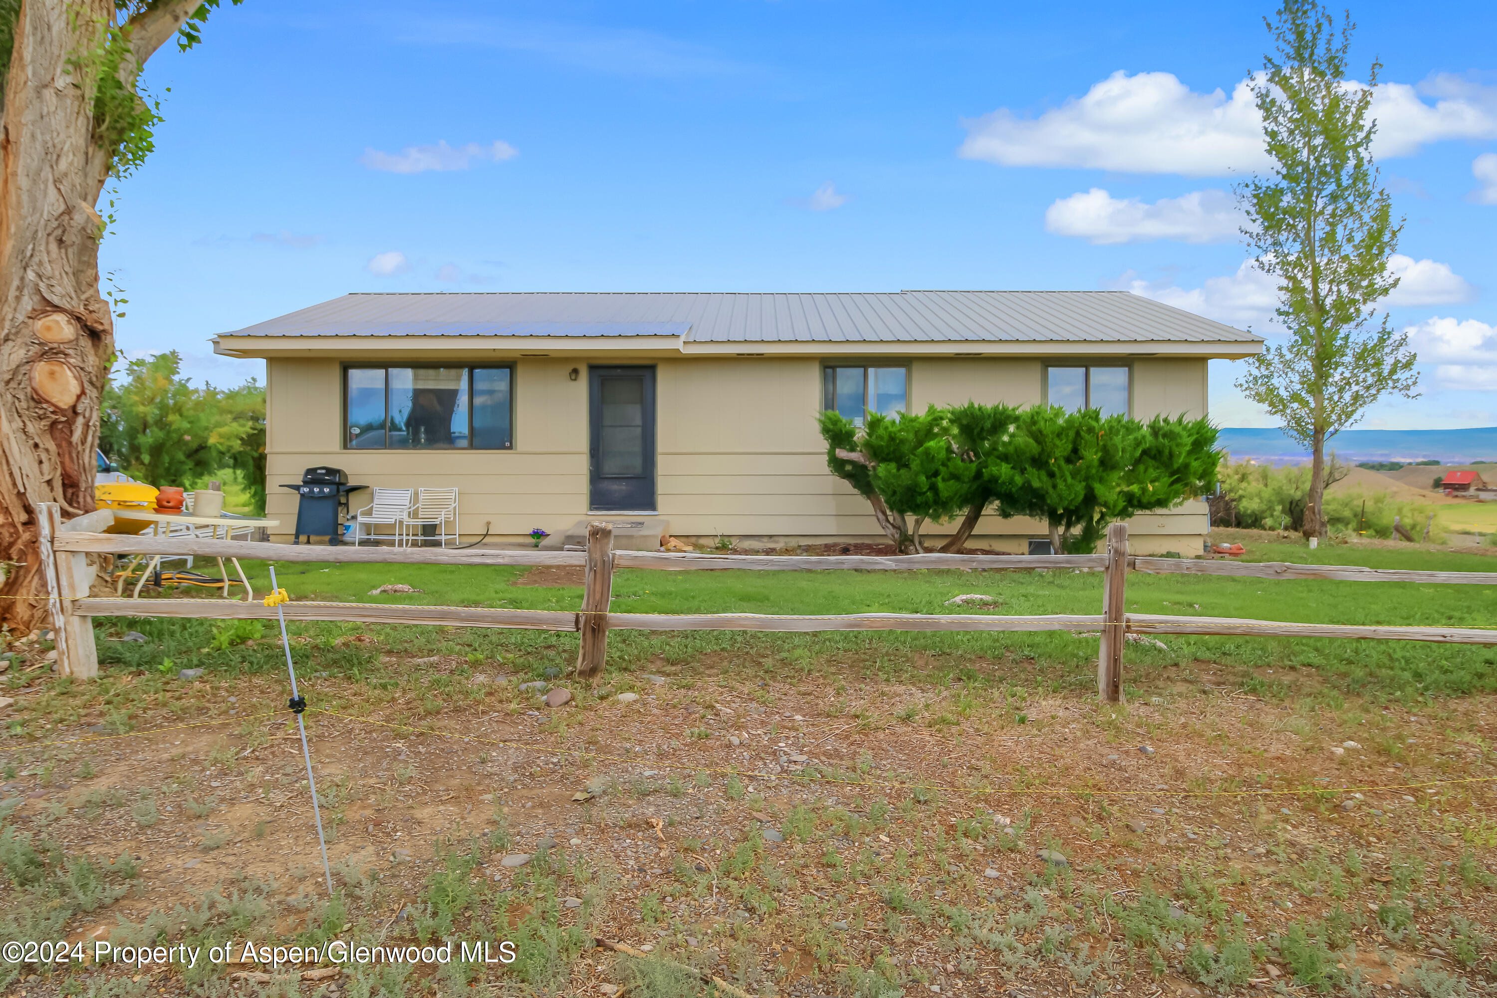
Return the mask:
{"type": "MultiPolygon", "coordinates": [[[[440,844],[478,835],[472,880],[512,898],[510,928],[531,910],[522,883],[546,862],[569,893],[560,925],[751,994],[853,994],[847,968],[874,965],[904,977],[904,994],[1204,994],[1165,944],[1169,961],[1151,973],[1097,959],[1136,943],[1130,926],[1154,892],[1171,898],[1166,920],[1240,917],[1250,944],[1341,919],[1355,949],[1337,949],[1355,964],[1338,967],[1379,994],[1433,994],[1410,974],[1436,967],[1490,985],[1490,940],[1464,965],[1440,940],[1452,919],[1497,925],[1491,697],[1332,709],[1298,696],[1317,687],[1301,670],[1257,670],[1278,690],[1262,699],[1195,663],[1126,708],[1006,693],[975,705],[958,682],[753,684],[734,679],[731,660],[698,664],[707,678],[632,676],[620,687],[638,690],[632,702],[575,688],[560,708],[457,657],[422,660],[473,688],[434,712],[308,679],[328,851],[340,880],[377,884],[364,895],[370,925],[400,937],[445,868],[440,844]],[[507,844],[493,847],[496,833],[507,844]],[[746,845],[756,865],[735,872],[746,845]],[[1391,934],[1385,911],[1401,896],[1413,931],[1391,934]],[[985,937],[961,929],[970,914],[1006,925],[1019,956],[972,943],[985,937]],[[1052,938],[1063,955],[1046,952],[1052,938]]],[[[21,798],[18,829],[139,863],[135,889],[69,922],[70,940],[109,938],[121,920],[192,908],[246,878],[274,884],[275,934],[310,931],[307,899],[325,887],[301,744],[275,714],[284,690],[259,678],[202,693],[195,717],[136,715],[142,733],[108,738],[100,700],[46,738],[93,741],[6,745],[19,766],[0,796],[21,798]],[[172,789],[150,824],[100,803],[145,787],[172,789]]],[[[596,953],[555,994],[620,994],[620,964],[596,953]]],[[[1235,991],[1281,991],[1292,968],[1274,953],[1235,991]]],[[[28,976],[7,994],[57,994],[63,980],[28,976]]],[[[484,980],[504,985],[503,971],[484,980]]],[[[174,970],[150,983],[183,988],[174,970]]],[[[337,979],[301,988],[338,994],[337,979]]]]}

